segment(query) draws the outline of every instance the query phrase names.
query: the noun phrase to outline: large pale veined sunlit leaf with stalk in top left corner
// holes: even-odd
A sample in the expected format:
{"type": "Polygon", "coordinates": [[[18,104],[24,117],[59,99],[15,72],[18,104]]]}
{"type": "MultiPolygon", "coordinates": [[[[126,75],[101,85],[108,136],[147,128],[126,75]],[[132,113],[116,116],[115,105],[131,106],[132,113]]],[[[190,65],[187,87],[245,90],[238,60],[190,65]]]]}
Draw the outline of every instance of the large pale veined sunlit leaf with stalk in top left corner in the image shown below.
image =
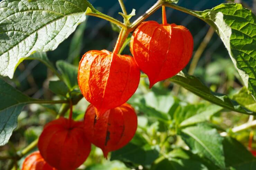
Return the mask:
{"type": "Polygon", "coordinates": [[[1,1],[0,76],[12,78],[17,65],[35,51],[56,49],[85,20],[86,13],[110,18],[87,0],[1,1]]]}

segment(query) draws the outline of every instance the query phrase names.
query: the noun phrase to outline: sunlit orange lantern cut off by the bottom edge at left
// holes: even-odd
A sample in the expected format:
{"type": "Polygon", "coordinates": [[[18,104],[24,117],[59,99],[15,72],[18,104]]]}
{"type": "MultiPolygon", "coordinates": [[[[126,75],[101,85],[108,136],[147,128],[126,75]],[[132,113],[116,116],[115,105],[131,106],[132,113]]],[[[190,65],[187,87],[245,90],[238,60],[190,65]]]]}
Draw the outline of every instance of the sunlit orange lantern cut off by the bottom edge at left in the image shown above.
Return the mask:
{"type": "Polygon", "coordinates": [[[49,166],[41,156],[39,151],[31,153],[27,156],[22,164],[21,170],[56,170],[49,166]]]}

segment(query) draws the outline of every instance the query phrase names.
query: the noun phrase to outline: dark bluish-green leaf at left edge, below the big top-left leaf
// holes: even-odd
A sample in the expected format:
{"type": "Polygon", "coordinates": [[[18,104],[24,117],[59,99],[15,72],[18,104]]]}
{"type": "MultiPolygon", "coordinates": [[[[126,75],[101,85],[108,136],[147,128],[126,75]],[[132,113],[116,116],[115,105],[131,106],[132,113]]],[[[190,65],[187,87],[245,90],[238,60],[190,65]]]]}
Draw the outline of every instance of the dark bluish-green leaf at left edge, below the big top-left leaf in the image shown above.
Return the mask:
{"type": "Polygon", "coordinates": [[[0,146],[6,144],[17,127],[17,118],[27,103],[37,101],[0,79],[0,146]]]}

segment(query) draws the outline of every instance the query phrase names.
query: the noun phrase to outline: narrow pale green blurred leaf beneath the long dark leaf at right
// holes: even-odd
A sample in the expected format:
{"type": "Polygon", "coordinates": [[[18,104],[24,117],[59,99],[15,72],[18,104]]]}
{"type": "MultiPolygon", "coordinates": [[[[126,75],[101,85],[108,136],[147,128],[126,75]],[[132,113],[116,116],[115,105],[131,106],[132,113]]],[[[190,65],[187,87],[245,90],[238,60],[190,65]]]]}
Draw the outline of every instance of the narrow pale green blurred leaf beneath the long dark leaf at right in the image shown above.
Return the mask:
{"type": "Polygon", "coordinates": [[[181,127],[189,126],[189,125],[210,120],[210,118],[215,113],[218,113],[220,110],[222,110],[222,107],[217,105],[210,105],[210,106],[204,107],[203,109],[200,109],[199,112],[197,112],[194,116],[191,116],[188,119],[185,119],[184,121],[182,121],[180,123],[180,126],[181,127]]]}

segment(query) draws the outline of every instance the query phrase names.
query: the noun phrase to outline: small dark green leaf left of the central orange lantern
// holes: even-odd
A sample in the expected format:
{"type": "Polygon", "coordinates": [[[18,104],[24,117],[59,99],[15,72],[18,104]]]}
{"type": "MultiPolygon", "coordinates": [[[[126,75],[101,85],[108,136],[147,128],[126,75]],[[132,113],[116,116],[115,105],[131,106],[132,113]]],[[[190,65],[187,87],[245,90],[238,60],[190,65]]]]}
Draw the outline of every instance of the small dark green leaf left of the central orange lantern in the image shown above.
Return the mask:
{"type": "Polygon", "coordinates": [[[60,94],[61,96],[66,97],[68,92],[68,88],[63,81],[50,81],[49,82],[49,89],[54,92],[55,94],[60,94]]]}

